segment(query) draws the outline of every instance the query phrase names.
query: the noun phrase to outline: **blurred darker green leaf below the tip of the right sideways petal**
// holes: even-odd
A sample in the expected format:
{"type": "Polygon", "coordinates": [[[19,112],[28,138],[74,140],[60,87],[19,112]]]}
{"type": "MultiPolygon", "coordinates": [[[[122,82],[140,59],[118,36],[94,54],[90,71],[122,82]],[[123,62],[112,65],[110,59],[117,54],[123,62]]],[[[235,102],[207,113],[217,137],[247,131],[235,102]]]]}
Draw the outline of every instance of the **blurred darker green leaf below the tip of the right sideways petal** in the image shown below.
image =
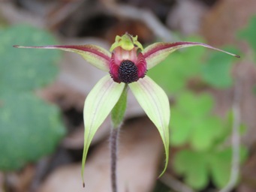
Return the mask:
{"type": "MultiPolygon", "coordinates": [[[[236,50],[230,50],[237,52],[236,50]]],[[[221,54],[221,52],[212,52],[208,62],[202,65],[201,74],[203,80],[215,88],[228,88],[233,84],[231,69],[233,66],[233,57],[221,54]]]]}

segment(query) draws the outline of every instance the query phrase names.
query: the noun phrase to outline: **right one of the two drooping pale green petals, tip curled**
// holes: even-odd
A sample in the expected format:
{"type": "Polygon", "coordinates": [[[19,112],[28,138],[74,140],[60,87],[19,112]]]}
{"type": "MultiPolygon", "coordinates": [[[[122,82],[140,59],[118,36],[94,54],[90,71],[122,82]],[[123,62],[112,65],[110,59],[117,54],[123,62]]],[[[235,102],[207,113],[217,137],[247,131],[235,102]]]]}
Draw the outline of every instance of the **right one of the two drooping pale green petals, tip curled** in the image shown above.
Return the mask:
{"type": "Polygon", "coordinates": [[[146,115],[158,128],[161,139],[164,142],[166,156],[164,170],[161,172],[162,175],[167,168],[169,159],[169,100],[163,89],[147,76],[137,82],[130,83],[129,87],[146,115]]]}

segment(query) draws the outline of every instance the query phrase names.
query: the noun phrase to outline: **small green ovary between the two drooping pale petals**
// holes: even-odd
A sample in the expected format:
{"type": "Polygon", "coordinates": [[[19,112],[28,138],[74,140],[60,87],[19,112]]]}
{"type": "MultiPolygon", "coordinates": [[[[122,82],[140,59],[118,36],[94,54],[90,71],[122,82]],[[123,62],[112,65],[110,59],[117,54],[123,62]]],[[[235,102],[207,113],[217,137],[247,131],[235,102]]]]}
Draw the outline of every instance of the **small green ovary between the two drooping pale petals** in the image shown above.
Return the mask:
{"type": "Polygon", "coordinates": [[[125,89],[122,91],[119,101],[117,101],[115,107],[111,111],[113,128],[118,128],[124,119],[127,104],[127,91],[127,85],[125,85],[125,89]]]}

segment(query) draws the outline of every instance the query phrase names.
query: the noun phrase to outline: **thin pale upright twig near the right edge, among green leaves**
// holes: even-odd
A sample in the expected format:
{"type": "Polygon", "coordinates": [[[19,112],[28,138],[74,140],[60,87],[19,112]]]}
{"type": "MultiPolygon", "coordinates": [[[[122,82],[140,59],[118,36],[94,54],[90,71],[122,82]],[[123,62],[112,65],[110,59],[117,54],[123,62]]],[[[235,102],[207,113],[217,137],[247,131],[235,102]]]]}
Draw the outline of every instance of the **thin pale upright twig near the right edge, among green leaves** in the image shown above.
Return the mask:
{"type": "MultiPolygon", "coordinates": [[[[242,68],[242,66],[239,66],[242,68]]],[[[242,94],[242,85],[241,79],[242,77],[241,70],[239,71],[238,78],[236,80],[236,84],[233,92],[233,127],[232,127],[232,162],[231,162],[231,170],[230,170],[230,180],[227,182],[227,185],[223,187],[219,192],[229,192],[233,190],[233,187],[236,186],[236,181],[239,177],[239,154],[240,154],[240,136],[239,136],[239,126],[240,126],[240,108],[239,103],[242,94]]]]}

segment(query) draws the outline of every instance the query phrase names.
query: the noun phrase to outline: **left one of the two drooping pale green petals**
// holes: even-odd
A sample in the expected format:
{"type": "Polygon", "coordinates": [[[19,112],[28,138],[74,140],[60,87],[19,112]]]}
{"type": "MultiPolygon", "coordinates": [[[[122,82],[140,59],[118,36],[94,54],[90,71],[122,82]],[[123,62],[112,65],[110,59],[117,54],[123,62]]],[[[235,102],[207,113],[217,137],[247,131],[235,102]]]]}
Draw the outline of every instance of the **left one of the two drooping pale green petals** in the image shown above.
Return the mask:
{"type": "MultiPolygon", "coordinates": [[[[86,155],[92,138],[110,111],[119,101],[125,83],[115,83],[110,75],[103,77],[92,89],[86,98],[83,109],[83,120],[85,124],[84,147],[82,160],[82,177],[86,163],[86,155]]],[[[84,179],[83,179],[84,182],[84,179]]]]}

